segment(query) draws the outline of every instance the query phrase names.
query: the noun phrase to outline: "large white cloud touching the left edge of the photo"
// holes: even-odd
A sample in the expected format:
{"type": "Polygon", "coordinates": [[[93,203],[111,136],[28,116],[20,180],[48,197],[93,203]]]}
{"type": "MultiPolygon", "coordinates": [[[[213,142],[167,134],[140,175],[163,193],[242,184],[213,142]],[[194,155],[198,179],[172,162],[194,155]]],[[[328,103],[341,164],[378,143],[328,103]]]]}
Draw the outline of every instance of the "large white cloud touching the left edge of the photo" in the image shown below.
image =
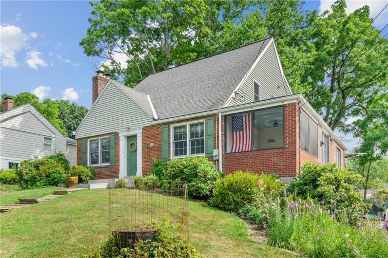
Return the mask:
{"type": "Polygon", "coordinates": [[[19,27],[0,25],[0,58],[4,67],[18,67],[16,53],[27,43],[27,37],[19,27]]]}

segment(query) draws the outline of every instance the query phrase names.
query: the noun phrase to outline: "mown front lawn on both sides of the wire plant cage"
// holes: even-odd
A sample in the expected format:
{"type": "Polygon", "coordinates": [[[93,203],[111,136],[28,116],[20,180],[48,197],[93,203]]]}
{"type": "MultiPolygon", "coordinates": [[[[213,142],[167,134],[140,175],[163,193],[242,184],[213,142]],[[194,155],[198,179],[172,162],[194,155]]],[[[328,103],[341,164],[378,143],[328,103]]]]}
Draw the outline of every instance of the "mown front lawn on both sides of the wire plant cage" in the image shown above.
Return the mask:
{"type": "MultiPolygon", "coordinates": [[[[19,191],[21,192],[21,191],[19,191]]],[[[107,239],[109,190],[85,190],[1,215],[0,257],[80,257],[107,239]]],[[[233,214],[188,202],[190,241],[207,257],[279,257],[233,214]]]]}

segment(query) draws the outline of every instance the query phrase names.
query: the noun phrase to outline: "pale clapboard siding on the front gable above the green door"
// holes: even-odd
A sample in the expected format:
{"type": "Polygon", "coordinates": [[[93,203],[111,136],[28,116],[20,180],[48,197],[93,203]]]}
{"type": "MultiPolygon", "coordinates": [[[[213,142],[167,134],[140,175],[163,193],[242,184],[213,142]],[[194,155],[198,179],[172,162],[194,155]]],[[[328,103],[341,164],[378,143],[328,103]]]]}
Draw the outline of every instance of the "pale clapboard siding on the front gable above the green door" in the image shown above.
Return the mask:
{"type": "Polygon", "coordinates": [[[126,93],[110,82],[79,126],[76,138],[131,129],[149,125],[152,118],[126,93]]]}

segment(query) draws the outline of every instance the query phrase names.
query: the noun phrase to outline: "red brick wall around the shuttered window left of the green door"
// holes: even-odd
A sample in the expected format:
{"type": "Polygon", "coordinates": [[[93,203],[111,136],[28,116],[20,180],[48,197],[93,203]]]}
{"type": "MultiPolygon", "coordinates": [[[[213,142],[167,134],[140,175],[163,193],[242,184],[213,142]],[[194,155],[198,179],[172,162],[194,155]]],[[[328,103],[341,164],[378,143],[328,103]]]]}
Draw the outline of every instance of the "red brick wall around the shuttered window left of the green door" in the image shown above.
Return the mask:
{"type": "MultiPolygon", "coordinates": [[[[91,137],[83,138],[83,139],[94,139],[101,138],[104,136],[109,136],[111,133],[94,135],[91,137]]],[[[81,140],[77,139],[77,165],[81,165],[81,140]]],[[[119,148],[119,137],[118,133],[115,132],[115,155],[116,155],[116,163],[115,166],[104,165],[104,166],[93,166],[97,171],[96,179],[108,179],[108,178],[118,178],[119,170],[120,170],[120,148],[119,148]]],[[[89,152],[89,146],[86,144],[86,153],[89,152]]]]}

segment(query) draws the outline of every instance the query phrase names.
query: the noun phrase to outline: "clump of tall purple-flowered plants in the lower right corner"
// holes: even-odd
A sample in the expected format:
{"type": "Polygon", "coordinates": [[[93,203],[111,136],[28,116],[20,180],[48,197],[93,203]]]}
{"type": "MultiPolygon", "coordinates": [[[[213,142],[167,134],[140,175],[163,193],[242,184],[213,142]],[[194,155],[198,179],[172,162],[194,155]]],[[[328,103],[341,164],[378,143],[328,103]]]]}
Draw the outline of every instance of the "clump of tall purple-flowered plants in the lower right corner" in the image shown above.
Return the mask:
{"type": "Polygon", "coordinates": [[[280,197],[275,203],[266,199],[269,244],[308,257],[388,257],[388,219],[384,215],[352,226],[349,217],[353,211],[338,211],[334,202],[330,202],[330,211],[324,201],[283,201],[285,207],[280,197]]]}

